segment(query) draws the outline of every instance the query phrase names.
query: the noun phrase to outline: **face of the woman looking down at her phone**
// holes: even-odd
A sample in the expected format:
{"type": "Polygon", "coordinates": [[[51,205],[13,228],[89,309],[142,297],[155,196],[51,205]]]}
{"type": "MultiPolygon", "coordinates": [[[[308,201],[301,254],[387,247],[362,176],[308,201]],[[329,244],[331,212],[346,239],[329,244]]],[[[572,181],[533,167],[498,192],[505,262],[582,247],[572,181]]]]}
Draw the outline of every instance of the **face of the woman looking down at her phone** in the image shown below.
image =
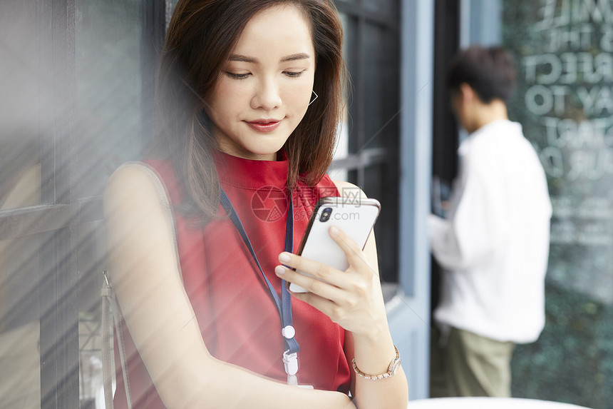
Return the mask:
{"type": "Polygon", "coordinates": [[[205,107],[222,151],[274,161],[309,106],[315,51],[295,6],[255,14],[230,53],[205,107]]]}

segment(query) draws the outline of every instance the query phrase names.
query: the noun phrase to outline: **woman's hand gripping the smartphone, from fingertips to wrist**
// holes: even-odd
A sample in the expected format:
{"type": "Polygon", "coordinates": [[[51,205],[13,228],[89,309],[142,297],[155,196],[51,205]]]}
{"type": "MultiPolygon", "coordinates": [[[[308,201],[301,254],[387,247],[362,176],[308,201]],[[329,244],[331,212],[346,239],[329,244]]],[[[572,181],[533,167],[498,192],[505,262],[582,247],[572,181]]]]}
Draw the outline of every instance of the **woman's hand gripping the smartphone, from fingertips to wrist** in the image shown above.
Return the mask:
{"type": "Polygon", "coordinates": [[[309,291],[293,296],[328,315],[345,330],[376,336],[387,325],[376,260],[374,265],[369,262],[364,251],[339,228],[331,227],[329,234],[346,255],[349,262],[346,271],[284,252],[279,254],[280,263],[313,277],[284,266],[277,266],[275,273],[309,291]]]}

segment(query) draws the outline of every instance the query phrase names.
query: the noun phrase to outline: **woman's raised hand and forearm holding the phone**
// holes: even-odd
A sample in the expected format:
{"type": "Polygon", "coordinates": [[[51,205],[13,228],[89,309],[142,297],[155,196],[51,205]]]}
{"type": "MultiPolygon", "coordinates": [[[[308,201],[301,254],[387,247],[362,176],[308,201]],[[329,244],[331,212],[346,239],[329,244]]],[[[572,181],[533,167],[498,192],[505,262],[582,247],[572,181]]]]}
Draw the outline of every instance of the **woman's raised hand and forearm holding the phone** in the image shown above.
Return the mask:
{"type": "MultiPolygon", "coordinates": [[[[389,333],[385,303],[381,293],[374,235],[366,241],[364,251],[338,228],[331,227],[330,237],[344,251],[349,268],[339,271],[324,263],[291,253],[279,254],[277,276],[309,291],[293,293],[345,328],[345,354],[351,368],[364,373],[381,374],[395,355],[389,333]]],[[[358,408],[406,408],[408,385],[402,368],[386,380],[366,380],[351,371],[351,395],[358,408]]]]}

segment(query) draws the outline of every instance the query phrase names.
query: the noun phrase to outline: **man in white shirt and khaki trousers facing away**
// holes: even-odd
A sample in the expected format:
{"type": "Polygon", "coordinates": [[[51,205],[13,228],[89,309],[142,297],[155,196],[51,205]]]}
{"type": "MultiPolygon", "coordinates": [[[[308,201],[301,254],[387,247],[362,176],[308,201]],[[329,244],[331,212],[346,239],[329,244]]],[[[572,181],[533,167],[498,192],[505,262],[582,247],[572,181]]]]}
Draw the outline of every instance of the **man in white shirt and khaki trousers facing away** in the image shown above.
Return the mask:
{"type": "Polygon", "coordinates": [[[521,125],[508,118],[515,67],[507,51],[460,51],[448,86],[453,113],[469,136],[458,149],[448,218],[428,221],[444,269],[431,395],[508,397],[515,343],[537,340],[545,325],[547,181],[521,125]]]}

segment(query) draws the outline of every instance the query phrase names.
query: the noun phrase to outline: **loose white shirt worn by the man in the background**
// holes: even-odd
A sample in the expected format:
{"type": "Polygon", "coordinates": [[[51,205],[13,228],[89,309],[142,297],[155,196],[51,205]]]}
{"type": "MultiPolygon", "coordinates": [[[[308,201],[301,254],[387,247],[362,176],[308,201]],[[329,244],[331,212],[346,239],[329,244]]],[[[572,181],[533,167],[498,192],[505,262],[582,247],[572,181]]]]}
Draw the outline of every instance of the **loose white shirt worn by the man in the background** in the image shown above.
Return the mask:
{"type": "Polygon", "coordinates": [[[445,268],[438,323],[528,343],[545,325],[551,202],[519,123],[494,121],[460,144],[448,218],[428,221],[445,268]]]}

